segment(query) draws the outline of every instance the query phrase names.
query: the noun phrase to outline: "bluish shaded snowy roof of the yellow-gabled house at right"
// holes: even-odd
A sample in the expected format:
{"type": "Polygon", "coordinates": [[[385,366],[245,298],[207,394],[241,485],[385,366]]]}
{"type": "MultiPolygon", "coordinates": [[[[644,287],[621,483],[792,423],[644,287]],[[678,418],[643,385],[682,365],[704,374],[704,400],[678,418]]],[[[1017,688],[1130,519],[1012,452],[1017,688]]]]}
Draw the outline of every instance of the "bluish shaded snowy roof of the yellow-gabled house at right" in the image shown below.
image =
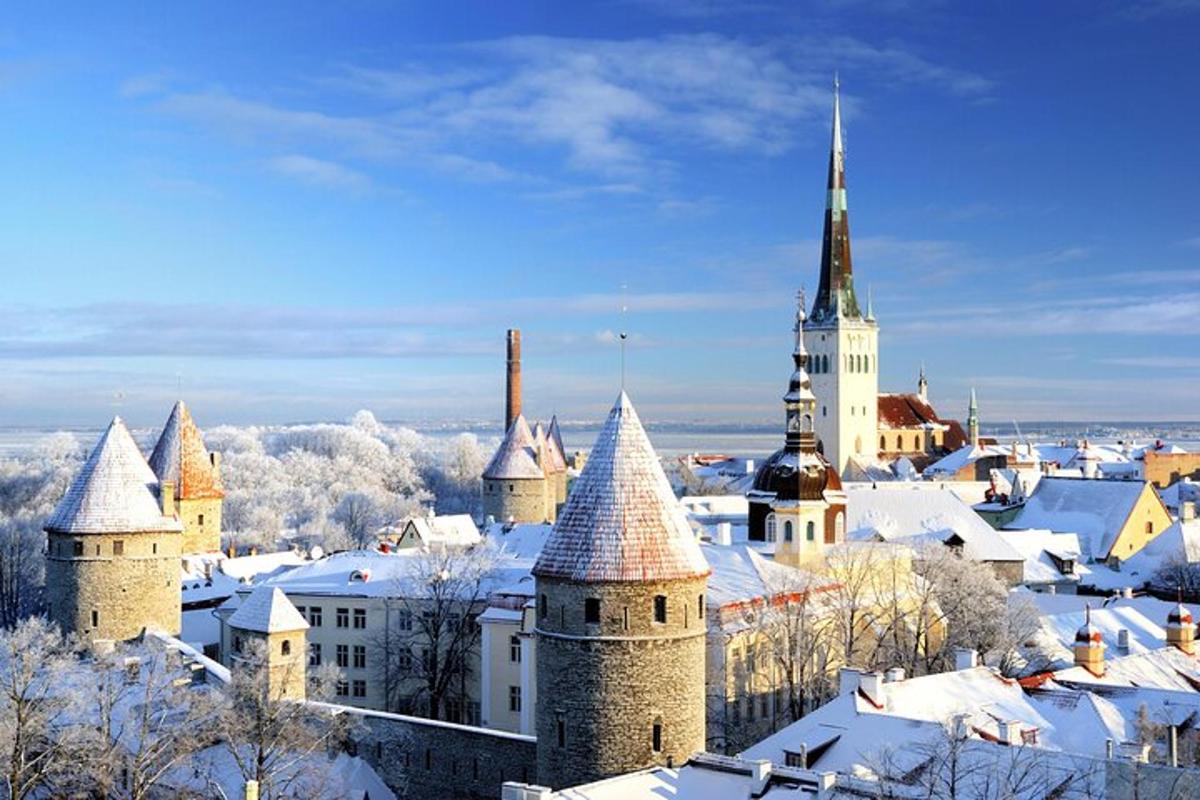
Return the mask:
{"type": "Polygon", "coordinates": [[[1045,528],[1079,534],[1086,555],[1108,558],[1141,497],[1141,481],[1043,477],[1021,511],[1004,528],[1045,528]]]}

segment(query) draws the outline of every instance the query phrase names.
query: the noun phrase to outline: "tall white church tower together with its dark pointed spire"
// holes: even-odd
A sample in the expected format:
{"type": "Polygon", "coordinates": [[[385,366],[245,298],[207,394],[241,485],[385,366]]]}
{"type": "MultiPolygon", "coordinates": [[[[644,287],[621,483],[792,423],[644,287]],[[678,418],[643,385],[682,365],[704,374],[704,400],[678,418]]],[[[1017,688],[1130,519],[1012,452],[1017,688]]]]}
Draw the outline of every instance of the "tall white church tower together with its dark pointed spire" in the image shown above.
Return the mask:
{"type": "Polygon", "coordinates": [[[812,303],[805,345],[811,354],[812,391],[820,398],[816,433],[839,474],[851,457],[874,461],[878,437],[878,325],[864,317],[854,294],[850,216],[841,144],[841,101],[833,96],[833,144],[821,245],[821,284],[812,303]]]}

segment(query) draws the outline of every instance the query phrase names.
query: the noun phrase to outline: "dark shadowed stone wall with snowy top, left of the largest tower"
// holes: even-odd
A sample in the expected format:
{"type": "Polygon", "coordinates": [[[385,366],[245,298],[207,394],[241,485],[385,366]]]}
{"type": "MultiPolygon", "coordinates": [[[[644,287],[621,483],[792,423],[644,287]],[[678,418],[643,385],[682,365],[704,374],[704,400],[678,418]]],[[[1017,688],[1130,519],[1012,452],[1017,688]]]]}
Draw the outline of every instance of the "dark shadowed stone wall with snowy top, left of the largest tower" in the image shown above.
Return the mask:
{"type": "Polygon", "coordinates": [[[528,783],[536,774],[533,736],[383,711],[353,712],[362,721],[358,754],[404,800],[496,800],[505,781],[528,783]]]}

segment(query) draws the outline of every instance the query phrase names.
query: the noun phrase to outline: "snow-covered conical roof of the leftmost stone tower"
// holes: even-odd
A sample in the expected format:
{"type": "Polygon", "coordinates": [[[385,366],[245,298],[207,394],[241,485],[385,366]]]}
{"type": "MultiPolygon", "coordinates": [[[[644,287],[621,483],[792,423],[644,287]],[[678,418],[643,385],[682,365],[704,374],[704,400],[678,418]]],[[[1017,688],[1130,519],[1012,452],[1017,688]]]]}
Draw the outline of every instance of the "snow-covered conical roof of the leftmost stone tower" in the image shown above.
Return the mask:
{"type": "Polygon", "coordinates": [[[60,534],[182,530],[178,519],[162,515],[157,488],[158,479],[125,422],[113,417],[59,507],[46,521],[46,530],[60,534]]]}

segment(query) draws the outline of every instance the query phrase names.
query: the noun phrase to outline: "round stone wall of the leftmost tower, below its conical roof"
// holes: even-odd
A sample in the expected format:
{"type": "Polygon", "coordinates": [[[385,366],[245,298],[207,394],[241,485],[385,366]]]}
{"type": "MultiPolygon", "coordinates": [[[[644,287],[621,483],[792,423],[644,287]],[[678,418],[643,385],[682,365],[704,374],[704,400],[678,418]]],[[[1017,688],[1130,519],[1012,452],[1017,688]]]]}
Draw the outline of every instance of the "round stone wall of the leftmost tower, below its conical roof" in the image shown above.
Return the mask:
{"type": "Polygon", "coordinates": [[[64,632],[114,640],[148,627],[179,633],[178,531],[47,537],[49,616],[64,632]]]}

